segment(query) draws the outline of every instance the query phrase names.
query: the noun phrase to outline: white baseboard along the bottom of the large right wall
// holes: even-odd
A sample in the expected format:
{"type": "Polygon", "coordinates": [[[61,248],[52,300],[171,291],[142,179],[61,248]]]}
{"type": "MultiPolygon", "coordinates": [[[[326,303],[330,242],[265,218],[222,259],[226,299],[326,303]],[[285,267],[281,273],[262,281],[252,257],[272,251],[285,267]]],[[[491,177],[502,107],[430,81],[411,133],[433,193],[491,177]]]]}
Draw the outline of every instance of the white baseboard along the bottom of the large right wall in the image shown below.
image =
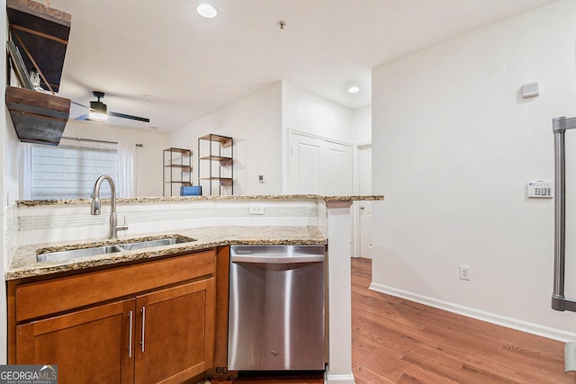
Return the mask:
{"type": "Polygon", "coordinates": [[[518,318],[504,317],[490,312],[484,312],[482,310],[460,306],[448,301],[428,298],[427,296],[422,296],[407,290],[398,290],[396,288],[388,287],[386,285],[377,284],[374,282],[370,284],[370,289],[401,299],[416,301],[417,303],[424,304],[429,307],[444,309],[448,312],[453,312],[458,315],[473,317],[478,320],[496,324],[498,326],[506,326],[518,331],[527,332],[528,334],[543,336],[564,343],[576,341],[576,334],[574,332],[564,331],[563,329],[553,328],[550,326],[540,326],[535,323],[518,320],[518,318]]]}

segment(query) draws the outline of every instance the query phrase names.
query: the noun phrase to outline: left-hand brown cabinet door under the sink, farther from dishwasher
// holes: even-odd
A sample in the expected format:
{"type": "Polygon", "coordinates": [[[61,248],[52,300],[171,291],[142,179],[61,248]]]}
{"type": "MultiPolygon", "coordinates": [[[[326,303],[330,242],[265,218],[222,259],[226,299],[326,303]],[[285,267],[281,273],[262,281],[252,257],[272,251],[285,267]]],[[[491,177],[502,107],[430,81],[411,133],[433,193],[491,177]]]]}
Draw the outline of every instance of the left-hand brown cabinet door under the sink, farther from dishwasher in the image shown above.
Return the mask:
{"type": "Polygon", "coordinates": [[[133,309],[131,299],[17,326],[16,363],[58,365],[64,384],[131,383],[133,309]]]}

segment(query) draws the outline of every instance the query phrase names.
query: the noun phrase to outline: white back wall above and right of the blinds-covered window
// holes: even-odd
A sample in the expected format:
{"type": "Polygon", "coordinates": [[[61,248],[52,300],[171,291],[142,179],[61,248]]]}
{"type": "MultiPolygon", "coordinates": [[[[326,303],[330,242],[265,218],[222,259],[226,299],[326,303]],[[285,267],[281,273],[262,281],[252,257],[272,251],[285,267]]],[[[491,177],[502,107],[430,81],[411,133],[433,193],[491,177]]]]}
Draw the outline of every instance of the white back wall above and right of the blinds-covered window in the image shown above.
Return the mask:
{"type": "MultiPolygon", "coordinates": [[[[130,129],[93,121],[68,121],[63,136],[142,144],[138,147],[136,195],[162,196],[162,150],[169,147],[168,135],[146,129],[130,129]]],[[[94,180],[95,181],[95,180],[94,180]]]]}

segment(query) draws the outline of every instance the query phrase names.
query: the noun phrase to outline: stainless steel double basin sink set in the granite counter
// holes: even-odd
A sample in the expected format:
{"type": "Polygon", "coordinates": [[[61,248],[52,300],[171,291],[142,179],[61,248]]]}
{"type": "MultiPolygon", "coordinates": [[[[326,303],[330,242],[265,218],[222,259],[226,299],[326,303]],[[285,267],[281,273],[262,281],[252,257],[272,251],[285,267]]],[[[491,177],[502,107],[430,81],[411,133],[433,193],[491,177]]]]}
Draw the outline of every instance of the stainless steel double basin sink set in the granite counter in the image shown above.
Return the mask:
{"type": "Polygon", "coordinates": [[[65,251],[40,253],[36,255],[36,261],[45,262],[62,262],[77,257],[109,255],[123,251],[139,251],[142,249],[154,248],[157,246],[173,246],[175,244],[189,243],[195,241],[190,237],[162,237],[151,240],[133,239],[125,243],[111,244],[108,246],[92,246],[79,249],[69,249],[65,251]]]}

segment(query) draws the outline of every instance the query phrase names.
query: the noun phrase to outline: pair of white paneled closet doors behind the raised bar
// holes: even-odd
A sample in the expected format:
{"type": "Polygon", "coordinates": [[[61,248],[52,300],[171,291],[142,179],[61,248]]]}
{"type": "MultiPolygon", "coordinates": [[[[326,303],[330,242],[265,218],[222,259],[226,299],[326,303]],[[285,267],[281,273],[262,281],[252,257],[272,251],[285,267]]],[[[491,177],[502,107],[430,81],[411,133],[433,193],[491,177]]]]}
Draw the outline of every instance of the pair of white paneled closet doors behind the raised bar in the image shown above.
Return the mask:
{"type": "Polygon", "coordinates": [[[352,169],[352,146],[291,133],[289,193],[351,194],[352,169]]]}

